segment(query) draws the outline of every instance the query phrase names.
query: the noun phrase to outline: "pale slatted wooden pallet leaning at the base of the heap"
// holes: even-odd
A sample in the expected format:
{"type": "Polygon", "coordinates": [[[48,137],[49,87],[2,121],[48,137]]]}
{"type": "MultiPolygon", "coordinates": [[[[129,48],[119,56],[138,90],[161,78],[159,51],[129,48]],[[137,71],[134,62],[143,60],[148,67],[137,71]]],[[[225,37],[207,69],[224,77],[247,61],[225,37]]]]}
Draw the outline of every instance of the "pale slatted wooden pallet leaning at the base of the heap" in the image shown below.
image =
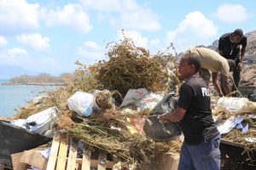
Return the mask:
{"type": "Polygon", "coordinates": [[[107,161],[106,153],[100,153],[97,160],[90,159],[91,152],[83,150],[83,158],[77,158],[78,141],[71,139],[68,153],[67,133],[55,133],[46,170],[113,170],[133,169],[135,166],[122,165],[119,161],[107,161]],[[68,153],[68,155],[67,155],[68,153]]]}

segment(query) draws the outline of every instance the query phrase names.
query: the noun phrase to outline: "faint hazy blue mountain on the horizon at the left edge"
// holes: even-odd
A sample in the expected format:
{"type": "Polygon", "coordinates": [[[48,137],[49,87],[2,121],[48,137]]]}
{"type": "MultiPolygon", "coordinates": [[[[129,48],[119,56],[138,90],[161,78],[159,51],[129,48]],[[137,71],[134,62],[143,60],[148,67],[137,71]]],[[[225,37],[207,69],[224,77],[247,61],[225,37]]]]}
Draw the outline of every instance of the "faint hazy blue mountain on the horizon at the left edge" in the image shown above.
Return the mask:
{"type": "Polygon", "coordinates": [[[1,79],[9,79],[11,77],[15,77],[17,75],[38,75],[37,71],[29,71],[18,66],[11,65],[0,65],[0,78],[1,79]]]}

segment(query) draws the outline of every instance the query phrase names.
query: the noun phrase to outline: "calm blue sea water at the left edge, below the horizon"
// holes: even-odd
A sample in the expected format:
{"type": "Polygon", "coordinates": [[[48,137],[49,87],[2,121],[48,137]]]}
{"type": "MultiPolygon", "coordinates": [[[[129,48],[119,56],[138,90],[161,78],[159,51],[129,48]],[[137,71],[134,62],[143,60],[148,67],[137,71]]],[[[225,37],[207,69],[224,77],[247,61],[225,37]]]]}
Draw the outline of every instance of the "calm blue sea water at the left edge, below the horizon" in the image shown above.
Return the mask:
{"type": "Polygon", "coordinates": [[[15,115],[15,109],[19,109],[34,99],[49,91],[55,90],[55,86],[33,85],[3,85],[8,80],[0,79],[0,116],[8,117],[15,115]]]}

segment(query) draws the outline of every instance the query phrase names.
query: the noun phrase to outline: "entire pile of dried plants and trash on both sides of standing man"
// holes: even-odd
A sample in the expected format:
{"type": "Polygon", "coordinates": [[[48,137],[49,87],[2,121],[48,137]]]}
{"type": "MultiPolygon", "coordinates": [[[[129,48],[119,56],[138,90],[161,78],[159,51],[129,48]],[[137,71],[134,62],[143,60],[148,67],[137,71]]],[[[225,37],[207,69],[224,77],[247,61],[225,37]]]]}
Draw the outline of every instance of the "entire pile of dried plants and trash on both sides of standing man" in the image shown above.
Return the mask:
{"type": "MultiPolygon", "coordinates": [[[[158,139],[145,133],[154,123],[166,126],[158,120],[154,122],[156,115],[175,107],[173,94],[167,92],[180,85],[175,74],[176,56],[170,53],[152,56],[125,38],[108,44],[108,57],[107,61],[90,67],[76,62],[79,68],[74,77],[66,80],[66,87],[20,108],[12,123],[51,138],[55,130],[65,129],[71,138],[90,150],[103,150],[115,160],[148,169],[145,166],[156,164],[160,155],[178,153],[183,140],[180,130],[170,133],[166,127],[163,133],[158,133],[158,139]],[[50,127],[52,130],[47,131],[50,127]],[[172,135],[166,138],[161,134],[172,135]]],[[[227,134],[224,138],[256,150],[254,131],[249,128],[255,125],[251,122],[256,113],[255,103],[242,98],[213,97],[212,111],[218,130],[227,134]],[[232,130],[235,127],[239,131],[232,130]]]]}

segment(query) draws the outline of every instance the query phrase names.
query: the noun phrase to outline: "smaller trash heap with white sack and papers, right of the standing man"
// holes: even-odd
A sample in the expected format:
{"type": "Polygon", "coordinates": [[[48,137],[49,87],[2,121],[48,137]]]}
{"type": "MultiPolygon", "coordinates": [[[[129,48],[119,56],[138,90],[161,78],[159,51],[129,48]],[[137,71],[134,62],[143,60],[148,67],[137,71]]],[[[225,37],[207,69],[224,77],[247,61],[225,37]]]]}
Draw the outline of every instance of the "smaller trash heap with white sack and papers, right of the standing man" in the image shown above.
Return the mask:
{"type": "Polygon", "coordinates": [[[256,165],[256,103],[242,97],[219,98],[212,113],[222,139],[244,148],[242,156],[256,165]]]}

